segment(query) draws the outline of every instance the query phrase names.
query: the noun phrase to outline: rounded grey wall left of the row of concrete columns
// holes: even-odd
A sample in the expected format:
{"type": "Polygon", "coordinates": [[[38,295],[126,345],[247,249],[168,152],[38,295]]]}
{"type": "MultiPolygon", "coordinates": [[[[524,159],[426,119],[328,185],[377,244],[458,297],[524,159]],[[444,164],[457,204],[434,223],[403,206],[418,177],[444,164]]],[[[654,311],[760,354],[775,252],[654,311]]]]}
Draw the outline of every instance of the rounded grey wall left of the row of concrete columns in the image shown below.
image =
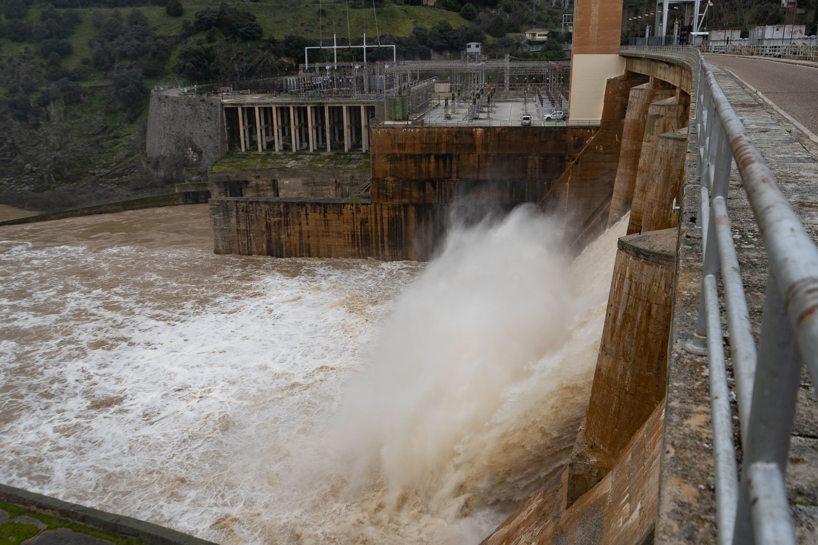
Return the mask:
{"type": "Polygon", "coordinates": [[[227,153],[222,126],[218,99],[152,92],[145,143],[151,167],[168,174],[205,170],[227,153]]]}

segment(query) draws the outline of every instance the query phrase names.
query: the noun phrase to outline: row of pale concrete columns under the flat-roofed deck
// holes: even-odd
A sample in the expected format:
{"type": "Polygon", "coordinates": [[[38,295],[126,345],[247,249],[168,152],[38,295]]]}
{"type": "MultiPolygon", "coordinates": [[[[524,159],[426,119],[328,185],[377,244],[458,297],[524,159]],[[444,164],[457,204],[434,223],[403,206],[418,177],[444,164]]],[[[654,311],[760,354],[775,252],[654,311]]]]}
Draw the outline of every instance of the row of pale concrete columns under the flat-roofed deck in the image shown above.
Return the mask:
{"type": "MultiPolygon", "coordinates": [[[[226,105],[225,122],[237,118],[241,151],[369,150],[366,105],[226,105]]],[[[229,129],[225,128],[228,138],[229,129]]]]}

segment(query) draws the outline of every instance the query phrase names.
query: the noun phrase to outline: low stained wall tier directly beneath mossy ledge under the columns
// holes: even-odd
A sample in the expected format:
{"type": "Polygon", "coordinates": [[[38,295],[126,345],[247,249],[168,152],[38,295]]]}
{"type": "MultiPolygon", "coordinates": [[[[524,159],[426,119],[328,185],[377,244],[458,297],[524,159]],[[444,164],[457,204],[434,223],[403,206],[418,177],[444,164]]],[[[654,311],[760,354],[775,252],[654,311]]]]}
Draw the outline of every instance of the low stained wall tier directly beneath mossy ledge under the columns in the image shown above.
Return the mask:
{"type": "Polygon", "coordinates": [[[366,185],[370,172],[362,169],[281,168],[209,172],[213,197],[348,197],[366,185]]]}

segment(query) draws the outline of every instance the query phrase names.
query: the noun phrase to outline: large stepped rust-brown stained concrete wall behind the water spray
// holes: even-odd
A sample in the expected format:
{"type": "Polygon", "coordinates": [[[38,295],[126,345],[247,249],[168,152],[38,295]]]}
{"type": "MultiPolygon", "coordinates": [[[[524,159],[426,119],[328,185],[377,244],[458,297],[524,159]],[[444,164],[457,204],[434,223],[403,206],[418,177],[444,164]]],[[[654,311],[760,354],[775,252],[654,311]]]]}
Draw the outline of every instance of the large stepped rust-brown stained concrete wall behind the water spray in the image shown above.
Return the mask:
{"type": "MultiPolygon", "coordinates": [[[[246,172],[213,172],[213,196],[228,197],[210,201],[215,252],[425,261],[452,214],[468,211],[479,219],[520,203],[539,203],[549,181],[595,132],[587,127],[376,127],[367,203],[285,199],[281,179],[273,177],[286,176],[285,171],[254,180],[247,180],[246,172]],[[245,180],[229,179],[234,176],[245,180]],[[276,192],[278,198],[263,196],[276,192]]],[[[359,181],[362,177],[346,189],[359,181]]],[[[304,185],[298,191],[303,198],[304,185]]]]}

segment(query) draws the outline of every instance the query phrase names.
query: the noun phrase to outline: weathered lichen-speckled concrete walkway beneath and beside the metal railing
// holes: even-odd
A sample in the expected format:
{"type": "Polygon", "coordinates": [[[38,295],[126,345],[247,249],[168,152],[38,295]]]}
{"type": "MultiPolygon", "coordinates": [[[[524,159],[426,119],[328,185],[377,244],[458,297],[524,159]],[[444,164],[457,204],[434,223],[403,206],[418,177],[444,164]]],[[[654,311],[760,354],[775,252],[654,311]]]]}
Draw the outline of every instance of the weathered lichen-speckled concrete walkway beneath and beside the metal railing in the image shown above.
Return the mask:
{"type": "MultiPolygon", "coordinates": [[[[736,114],[775,173],[807,232],[818,240],[818,145],[717,65],[710,68],[736,114]]],[[[699,208],[694,135],[685,163],[679,261],[656,543],[717,543],[710,399],[706,358],[685,351],[695,329],[701,284],[701,239],[693,236],[699,208]],[[705,455],[707,453],[707,455],[705,455]]],[[[728,212],[756,338],[766,291],[766,253],[738,171],[730,173],[728,212]]],[[[726,345],[730,337],[723,331],[726,345]]],[[[731,373],[731,371],[729,371],[731,373]]],[[[735,409],[735,406],[734,406],[735,409]]],[[[740,441],[736,438],[736,445],[740,441]]],[[[799,543],[818,543],[818,397],[806,372],[798,391],[787,488],[799,543]]]]}

